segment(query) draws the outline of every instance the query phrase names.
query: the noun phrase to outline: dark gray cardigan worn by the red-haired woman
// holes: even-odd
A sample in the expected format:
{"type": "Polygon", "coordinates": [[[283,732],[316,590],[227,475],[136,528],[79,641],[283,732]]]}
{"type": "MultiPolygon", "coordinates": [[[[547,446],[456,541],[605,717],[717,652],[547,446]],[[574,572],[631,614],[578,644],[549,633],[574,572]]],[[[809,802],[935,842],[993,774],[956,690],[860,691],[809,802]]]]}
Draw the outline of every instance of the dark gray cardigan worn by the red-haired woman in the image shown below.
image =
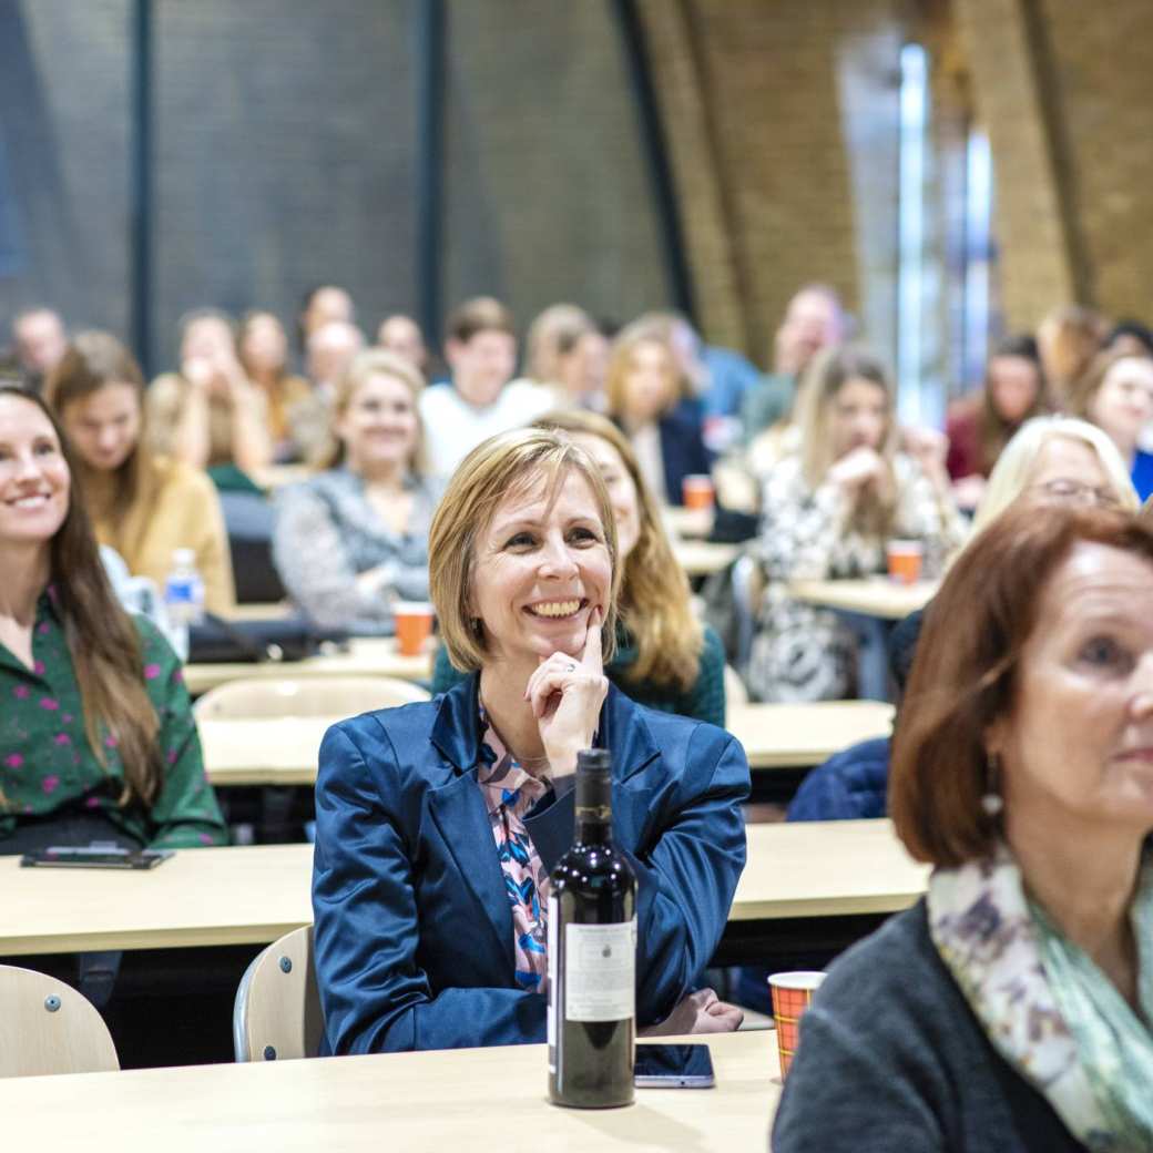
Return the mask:
{"type": "Polygon", "coordinates": [[[830,967],[801,1018],[774,1153],[1070,1153],[1048,1101],[994,1050],[924,900],[830,967]]]}

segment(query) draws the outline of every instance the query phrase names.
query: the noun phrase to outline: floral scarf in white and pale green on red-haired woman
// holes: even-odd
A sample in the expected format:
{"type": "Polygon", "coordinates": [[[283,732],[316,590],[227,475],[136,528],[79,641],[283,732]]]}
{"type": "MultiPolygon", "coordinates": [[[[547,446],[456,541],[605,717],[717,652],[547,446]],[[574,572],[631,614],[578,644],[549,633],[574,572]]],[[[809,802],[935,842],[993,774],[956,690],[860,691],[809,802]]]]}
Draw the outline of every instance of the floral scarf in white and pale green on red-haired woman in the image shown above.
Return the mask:
{"type": "Polygon", "coordinates": [[[1153,1151],[1153,857],[1130,915],[1143,1022],[1025,895],[1008,847],[936,869],[929,933],[994,1048],[1093,1153],[1153,1151]]]}

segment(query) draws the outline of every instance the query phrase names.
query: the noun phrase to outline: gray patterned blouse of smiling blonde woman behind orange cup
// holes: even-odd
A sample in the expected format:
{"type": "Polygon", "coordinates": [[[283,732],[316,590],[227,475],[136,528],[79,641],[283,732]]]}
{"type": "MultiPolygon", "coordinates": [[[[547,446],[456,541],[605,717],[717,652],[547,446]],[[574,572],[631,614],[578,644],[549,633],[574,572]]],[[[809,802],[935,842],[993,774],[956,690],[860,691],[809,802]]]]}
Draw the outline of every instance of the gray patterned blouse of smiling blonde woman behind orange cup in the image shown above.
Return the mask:
{"type": "Polygon", "coordinates": [[[293,602],[318,625],[359,635],[393,632],[392,601],[427,601],[429,525],[440,498],[439,482],[406,482],[413,507],[404,533],[380,521],[364,497],[364,482],[333,468],[277,497],[272,559],[293,602]],[[360,573],[390,566],[379,593],[363,595],[360,573]]]}

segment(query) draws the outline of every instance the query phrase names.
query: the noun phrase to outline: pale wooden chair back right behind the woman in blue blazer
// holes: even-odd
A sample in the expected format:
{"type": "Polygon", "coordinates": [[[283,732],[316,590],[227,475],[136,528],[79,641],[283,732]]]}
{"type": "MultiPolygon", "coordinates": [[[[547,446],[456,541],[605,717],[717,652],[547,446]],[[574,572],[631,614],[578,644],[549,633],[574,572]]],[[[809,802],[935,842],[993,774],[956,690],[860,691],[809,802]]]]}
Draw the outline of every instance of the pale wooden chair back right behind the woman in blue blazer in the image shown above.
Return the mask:
{"type": "Polygon", "coordinates": [[[315,1057],[323,1035],[312,926],[306,925],[273,941],[246,970],[232,1040],[238,1061],[293,1061],[315,1057]]]}

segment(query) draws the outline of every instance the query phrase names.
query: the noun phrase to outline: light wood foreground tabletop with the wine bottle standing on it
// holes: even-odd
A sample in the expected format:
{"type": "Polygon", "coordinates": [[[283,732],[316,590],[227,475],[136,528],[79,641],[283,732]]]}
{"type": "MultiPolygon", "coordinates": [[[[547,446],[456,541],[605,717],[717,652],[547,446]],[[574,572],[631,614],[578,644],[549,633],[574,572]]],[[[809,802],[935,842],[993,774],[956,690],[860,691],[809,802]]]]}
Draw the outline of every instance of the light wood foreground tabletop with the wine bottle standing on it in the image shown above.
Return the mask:
{"type": "Polygon", "coordinates": [[[686,1040],[707,1040],[716,1088],[638,1090],[621,1109],[549,1105],[543,1045],[24,1077],[0,1082],[0,1109],[13,1148],[766,1148],[776,1034],[686,1040]]]}

